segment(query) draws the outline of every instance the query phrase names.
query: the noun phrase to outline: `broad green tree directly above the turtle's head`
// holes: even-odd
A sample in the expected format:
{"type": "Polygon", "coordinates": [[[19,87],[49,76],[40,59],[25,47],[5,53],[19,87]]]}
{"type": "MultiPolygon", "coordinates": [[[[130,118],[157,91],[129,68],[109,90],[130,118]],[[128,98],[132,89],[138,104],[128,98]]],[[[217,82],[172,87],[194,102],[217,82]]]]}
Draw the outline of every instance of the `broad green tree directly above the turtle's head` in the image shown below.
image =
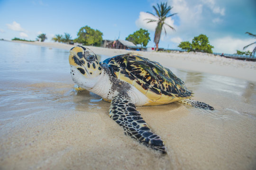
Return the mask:
{"type": "Polygon", "coordinates": [[[94,30],[90,26],[84,26],[80,28],[79,32],[77,33],[77,38],[74,42],[82,43],[83,45],[94,45],[100,46],[102,42],[102,35],[101,31],[94,30]]]}

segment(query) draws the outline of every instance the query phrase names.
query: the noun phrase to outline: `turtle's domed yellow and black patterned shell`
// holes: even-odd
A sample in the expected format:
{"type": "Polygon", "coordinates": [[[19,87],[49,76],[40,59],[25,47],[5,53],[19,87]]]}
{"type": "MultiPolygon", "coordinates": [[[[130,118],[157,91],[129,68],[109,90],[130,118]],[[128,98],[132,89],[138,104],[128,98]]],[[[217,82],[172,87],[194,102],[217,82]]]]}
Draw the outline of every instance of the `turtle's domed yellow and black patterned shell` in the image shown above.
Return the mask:
{"type": "Polygon", "coordinates": [[[149,101],[145,105],[160,105],[192,97],[184,82],[156,61],[123,54],[103,61],[113,76],[134,85],[149,101]]]}

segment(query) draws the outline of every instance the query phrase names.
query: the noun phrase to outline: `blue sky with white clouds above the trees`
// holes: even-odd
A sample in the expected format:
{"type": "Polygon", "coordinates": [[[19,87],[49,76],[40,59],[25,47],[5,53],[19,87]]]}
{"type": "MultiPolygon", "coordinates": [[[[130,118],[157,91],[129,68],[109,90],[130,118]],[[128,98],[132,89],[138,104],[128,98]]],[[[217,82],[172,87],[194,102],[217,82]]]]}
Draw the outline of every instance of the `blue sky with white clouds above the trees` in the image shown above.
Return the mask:
{"type": "MultiPolygon", "coordinates": [[[[154,47],[156,23],[146,23],[154,16],[153,5],[167,2],[173,7],[165,22],[175,28],[162,31],[159,48],[179,49],[180,42],[192,42],[205,34],[213,52],[236,53],[256,42],[245,34],[256,34],[256,0],[0,0],[0,39],[14,37],[36,40],[46,34],[77,37],[79,29],[90,26],[103,33],[103,39],[125,40],[140,28],[148,30],[154,47]]],[[[248,48],[251,50],[254,46],[248,48]]]]}

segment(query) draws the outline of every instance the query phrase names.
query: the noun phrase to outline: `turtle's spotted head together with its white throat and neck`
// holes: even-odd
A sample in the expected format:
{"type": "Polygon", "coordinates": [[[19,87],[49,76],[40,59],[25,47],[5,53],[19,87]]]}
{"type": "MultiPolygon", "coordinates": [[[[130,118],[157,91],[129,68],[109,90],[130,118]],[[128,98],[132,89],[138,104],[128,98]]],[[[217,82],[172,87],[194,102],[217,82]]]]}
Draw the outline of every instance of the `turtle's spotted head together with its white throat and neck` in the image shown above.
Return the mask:
{"type": "Polygon", "coordinates": [[[105,97],[111,86],[110,78],[102,69],[93,51],[82,46],[73,47],[70,51],[69,63],[75,84],[105,97]]]}

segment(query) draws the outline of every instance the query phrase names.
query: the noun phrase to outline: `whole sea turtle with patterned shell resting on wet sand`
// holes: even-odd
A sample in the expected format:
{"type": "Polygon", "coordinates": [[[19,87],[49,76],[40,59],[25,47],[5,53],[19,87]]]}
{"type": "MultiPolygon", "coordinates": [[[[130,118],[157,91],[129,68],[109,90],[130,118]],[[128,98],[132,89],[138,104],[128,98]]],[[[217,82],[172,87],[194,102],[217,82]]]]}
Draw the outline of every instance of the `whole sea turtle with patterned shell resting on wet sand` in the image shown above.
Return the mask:
{"type": "Polygon", "coordinates": [[[152,132],[136,106],[181,102],[214,110],[190,99],[193,93],[168,68],[140,56],[117,55],[100,63],[93,51],[78,45],[70,50],[69,63],[78,90],[89,90],[111,102],[109,116],[125,134],[162,153],[166,153],[164,142],[152,132]]]}

